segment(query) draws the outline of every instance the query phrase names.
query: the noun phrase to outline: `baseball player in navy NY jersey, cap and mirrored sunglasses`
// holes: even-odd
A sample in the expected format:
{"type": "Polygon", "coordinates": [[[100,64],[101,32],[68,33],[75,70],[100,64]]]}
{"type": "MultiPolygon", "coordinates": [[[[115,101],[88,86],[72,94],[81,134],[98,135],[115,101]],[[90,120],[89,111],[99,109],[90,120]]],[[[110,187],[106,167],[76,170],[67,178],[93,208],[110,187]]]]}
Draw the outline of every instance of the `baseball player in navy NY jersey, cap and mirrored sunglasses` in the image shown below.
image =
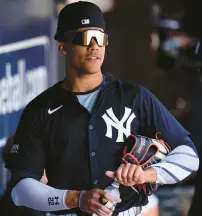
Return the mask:
{"type": "Polygon", "coordinates": [[[113,202],[103,189],[116,176],[122,200],[114,210],[118,214],[147,204],[144,193],[128,186],[172,184],[197,170],[189,133],[157,98],[140,85],[101,72],[108,38],[96,5],[67,5],[55,39],[66,60],[66,78],[36,97],[22,114],[8,164],[15,205],[52,215],[111,215],[113,208],[99,200],[113,202]],[[121,164],[127,136],[154,137],[156,132],[173,149],[166,160],[145,170],[121,164]],[[39,182],[44,168],[48,185],[39,182]]]}

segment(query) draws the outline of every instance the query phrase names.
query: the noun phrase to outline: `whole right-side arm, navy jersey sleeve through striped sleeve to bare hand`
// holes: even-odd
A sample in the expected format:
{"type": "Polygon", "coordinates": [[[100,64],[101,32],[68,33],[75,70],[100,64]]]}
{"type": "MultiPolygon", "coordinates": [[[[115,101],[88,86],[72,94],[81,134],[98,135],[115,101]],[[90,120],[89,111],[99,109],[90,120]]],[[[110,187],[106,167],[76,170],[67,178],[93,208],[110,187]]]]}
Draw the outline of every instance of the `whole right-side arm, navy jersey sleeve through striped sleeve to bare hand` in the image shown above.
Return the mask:
{"type": "MultiPolygon", "coordinates": [[[[138,97],[136,103],[139,103],[141,110],[140,134],[155,137],[155,134],[160,132],[162,139],[169,143],[173,150],[161,163],[145,170],[139,166],[122,164],[116,172],[118,180],[124,185],[156,181],[163,184],[174,184],[182,181],[199,166],[196,148],[188,137],[189,132],[148,90],[140,87],[138,97]],[[190,160],[192,163],[189,163],[190,160]]],[[[113,177],[112,173],[108,174],[109,177],[113,177]]]]}

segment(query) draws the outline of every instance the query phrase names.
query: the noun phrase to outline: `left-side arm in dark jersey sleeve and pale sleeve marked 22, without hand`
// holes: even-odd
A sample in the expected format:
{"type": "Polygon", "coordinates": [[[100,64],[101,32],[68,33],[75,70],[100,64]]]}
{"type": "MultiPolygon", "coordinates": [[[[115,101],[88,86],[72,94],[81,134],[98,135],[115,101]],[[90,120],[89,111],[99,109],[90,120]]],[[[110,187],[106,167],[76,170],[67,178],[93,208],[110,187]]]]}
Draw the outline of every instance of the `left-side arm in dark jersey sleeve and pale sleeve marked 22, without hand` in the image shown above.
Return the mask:
{"type": "MultiPolygon", "coordinates": [[[[46,157],[45,138],[42,135],[44,131],[42,112],[32,102],[24,109],[9,148],[7,167],[11,171],[11,197],[18,206],[42,211],[51,211],[53,207],[59,210],[67,209],[66,202],[62,200],[60,205],[51,205],[49,202],[52,197],[64,198],[67,190],[58,190],[39,182],[44,173],[46,157]]],[[[78,192],[71,194],[74,194],[75,199],[78,196],[78,192]]],[[[76,205],[69,202],[68,204],[76,205]]]]}

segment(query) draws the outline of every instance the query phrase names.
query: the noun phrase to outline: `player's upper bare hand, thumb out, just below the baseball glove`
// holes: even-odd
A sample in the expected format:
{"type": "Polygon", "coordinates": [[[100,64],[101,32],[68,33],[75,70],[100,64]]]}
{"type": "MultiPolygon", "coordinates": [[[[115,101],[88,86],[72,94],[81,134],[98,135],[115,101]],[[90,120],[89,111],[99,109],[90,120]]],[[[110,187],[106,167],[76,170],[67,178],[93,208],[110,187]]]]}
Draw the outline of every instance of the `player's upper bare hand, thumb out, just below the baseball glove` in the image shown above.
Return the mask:
{"type": "Polygon", "coordinates": [[[117,178],[120,184],[125,186],[133,186],[136,184],[144,184],[146,182],[145,171],[142,167],[135,164],[121,164],[116,172],[107,171],[106,175],[110,178],[117,178]]]}

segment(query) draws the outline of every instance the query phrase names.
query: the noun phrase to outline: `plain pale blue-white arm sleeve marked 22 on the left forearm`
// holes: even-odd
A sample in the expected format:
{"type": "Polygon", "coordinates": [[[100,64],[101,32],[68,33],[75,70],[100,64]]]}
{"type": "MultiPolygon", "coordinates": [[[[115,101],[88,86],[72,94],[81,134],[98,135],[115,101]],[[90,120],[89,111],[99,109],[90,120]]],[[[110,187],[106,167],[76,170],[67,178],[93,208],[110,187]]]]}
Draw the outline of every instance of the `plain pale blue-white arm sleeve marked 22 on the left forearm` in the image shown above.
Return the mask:
{"type": "Polygon", "coordinates": [[[67,190],[59,190],[33,178],[25,178],[13,188],[11,197],[17,206],[51,212],[68,209],[65,204],[66,193],[67,190]]]}

